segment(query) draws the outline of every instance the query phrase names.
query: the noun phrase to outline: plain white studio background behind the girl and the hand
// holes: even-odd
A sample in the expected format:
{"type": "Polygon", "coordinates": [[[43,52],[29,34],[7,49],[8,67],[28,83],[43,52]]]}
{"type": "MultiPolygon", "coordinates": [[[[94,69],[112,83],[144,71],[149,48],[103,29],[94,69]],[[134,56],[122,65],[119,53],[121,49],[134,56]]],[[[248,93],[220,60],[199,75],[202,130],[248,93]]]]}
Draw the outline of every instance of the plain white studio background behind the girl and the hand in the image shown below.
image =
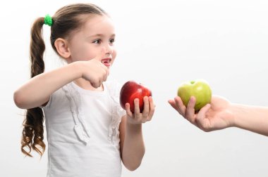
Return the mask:
{"type": "MultiPolygon", "coordinates": [[[[74,2],[17,0],[0,6],[0,176],[46,176],[47,152],[42,159],[20,152],[24,111],[14,105],[13,91],[30,77],[33,20],[74,2]]],[[[150,87],[156,104],[152,122],[143,126],[142,165],[123,169],[123,177],[268,176],[267,137],[236,128],[202,132],[167,103],[182,81],[202,78],[233,103],[268,105],[267,0],[90,2],[116,25],[118,57],[111,77],[150,87]]],[[[61,62],[49,46],[48,26],[44,38],[51,70],[61,62]]]]}

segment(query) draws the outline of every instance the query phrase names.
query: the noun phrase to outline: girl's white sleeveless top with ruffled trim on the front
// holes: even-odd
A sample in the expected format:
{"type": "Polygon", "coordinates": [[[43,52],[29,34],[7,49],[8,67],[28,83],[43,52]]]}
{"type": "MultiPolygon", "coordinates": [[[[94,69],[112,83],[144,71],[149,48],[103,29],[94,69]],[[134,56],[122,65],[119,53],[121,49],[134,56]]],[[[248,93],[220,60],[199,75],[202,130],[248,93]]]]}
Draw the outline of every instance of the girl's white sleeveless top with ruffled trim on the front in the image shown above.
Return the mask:
{"type": "Polygon", "coordinates": [[[51,95],[43,107],[48,141],[47,177],[121,176],[118,127],[126,112],[121,86],[104,82],[88,91],[73,82],[51,95]]]}

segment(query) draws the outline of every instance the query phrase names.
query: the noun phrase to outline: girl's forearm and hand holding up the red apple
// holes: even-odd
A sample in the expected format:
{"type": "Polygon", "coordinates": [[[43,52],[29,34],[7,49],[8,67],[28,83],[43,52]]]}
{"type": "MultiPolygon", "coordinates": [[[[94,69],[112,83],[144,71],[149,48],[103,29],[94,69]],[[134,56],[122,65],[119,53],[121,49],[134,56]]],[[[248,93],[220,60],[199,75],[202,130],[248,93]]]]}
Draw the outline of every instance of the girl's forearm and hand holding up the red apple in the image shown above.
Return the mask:
{"type": "Polygon", "coordinates": [[[135,113],[130,111],[130,105],[126,103],[126,116],[120,124],[121,158],[124,166],[130,171],[137,169],[145,154],[145,144],[142,138],[142,123],[152,119],[154,103],[152,97],[144,98],[144,110],[140,113],[139,100],[134,100],[135,113]]]}

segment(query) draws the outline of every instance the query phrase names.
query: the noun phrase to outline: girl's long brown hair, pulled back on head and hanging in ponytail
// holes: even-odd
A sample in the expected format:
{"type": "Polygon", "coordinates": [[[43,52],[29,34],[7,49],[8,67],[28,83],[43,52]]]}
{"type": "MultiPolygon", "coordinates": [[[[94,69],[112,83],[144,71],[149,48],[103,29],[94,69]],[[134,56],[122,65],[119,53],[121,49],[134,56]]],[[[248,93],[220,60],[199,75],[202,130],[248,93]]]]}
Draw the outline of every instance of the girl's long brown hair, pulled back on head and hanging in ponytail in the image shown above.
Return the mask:
{"type": "MultiPolygon", "coordinates": [[[[93,4],[71,4],[63,6],[52,17],[51,25],[51,46],[56,51],[54,42],[58,38],[66,38],[71,32],[80,29],[85,22],[82,15],[107,15],[102,8],[93,4]]],[[[30,62],[31,77],[44,72],[43,54],[45,50],[44,39],[42,37],[42,27],[44,18],[37,18],[32,25],[30,41],[30,62]]],[[[57,51],[56,51],[57,53],[57,51]]],[[[39,155],[44,154],[46,145],[44,144],[44,113],[42,108],[34,107],[26,111],[23,121],[23,136],[21,140],[21,151],[23,154],[32,157],[30,152],[35,150],[39,155]],[[28,151],[25,150],[28,147],[28,151]]]]}

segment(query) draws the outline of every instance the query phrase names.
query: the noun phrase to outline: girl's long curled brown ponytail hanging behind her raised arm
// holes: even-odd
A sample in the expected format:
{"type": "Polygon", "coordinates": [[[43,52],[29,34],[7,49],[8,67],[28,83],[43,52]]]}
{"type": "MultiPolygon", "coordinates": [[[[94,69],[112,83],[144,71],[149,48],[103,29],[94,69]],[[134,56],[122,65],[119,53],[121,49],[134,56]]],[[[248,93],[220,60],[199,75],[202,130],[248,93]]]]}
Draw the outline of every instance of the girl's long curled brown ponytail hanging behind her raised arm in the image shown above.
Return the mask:
{"type": "MultiPolygon", "coordinates": [[[[31,77],[44,72],[44,39],[42,37],[42,27],[44,18],[37,18],[32,25],[30,41],[30,61],[31,77]]],[[[44,114],[40,107],[34,107],[26,111],[23,122],[23,136],[21,140],[21,151],[23,154],[32,157],[30,152],[35,150],[39,155],[44,154],[46,145],[44,144],[44,114]],[[28,151],[25,150],[28,147],[28,151]]]]}

